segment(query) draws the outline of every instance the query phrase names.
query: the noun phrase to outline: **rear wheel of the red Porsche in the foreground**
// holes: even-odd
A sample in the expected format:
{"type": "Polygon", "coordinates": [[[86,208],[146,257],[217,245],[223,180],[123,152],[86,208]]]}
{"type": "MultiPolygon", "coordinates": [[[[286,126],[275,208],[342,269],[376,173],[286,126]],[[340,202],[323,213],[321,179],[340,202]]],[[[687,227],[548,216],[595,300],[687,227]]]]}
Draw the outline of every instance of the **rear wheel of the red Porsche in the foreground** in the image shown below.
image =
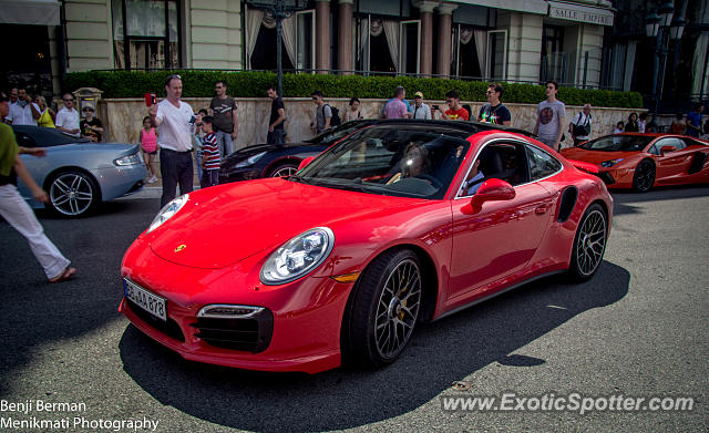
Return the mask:
{"type": "Polygon", "coordinates": [[[597,203],[590,205],[576,228],[568,274],[575,281],[584,281],[596,274],[608,241],[608,216],[597,203]]]}

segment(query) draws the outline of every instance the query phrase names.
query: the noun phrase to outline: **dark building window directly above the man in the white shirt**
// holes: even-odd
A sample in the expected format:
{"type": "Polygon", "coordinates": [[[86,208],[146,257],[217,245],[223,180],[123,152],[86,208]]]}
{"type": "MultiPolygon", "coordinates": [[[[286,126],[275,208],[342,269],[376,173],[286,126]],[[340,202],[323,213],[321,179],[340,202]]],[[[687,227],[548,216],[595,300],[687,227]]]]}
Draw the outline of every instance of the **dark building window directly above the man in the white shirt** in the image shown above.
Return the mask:
{"type": "Polygon", "coordinates": [[[181,66],[176,0],[113,0],[111,8],[116,69],[181,66]]]}

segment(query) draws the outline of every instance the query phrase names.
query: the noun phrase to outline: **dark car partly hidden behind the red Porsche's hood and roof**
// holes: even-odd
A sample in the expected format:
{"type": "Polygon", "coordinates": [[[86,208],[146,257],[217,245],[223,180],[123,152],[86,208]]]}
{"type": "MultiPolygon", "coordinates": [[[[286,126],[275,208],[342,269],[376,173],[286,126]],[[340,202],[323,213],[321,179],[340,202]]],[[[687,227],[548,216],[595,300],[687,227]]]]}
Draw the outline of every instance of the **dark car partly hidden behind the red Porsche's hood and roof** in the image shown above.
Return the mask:
{"type": "Polygon", "coordinates": [[[302,159],[319,155],[352,131],[373,122],[373,120],[347,122],[300,143],[256,144],[244,147],[222,162],[219,183],[291,175],[297,172],[302,159]]]}

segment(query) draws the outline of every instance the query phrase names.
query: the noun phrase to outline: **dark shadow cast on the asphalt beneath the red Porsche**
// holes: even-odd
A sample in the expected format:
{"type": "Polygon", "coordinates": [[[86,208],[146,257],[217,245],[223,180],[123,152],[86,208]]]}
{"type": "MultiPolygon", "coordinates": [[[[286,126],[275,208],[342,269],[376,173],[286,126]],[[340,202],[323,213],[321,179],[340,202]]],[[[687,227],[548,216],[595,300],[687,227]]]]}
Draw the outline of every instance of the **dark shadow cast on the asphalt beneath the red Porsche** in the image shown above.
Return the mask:
{"type": "Polygon", "coordinates": [[[626,269],[604,261],[582,285],[559,277],[532,282],[420,326],[402,357],[380,370],[307,375],[198,364],[133,326],[120,352],[125,372],[146,392],[202,420],[261,432],[357,427],[413,411],[492,362],[520,368],[546,362],[511,353],[584,311],[623,299],[629,281],[626,269]]]}

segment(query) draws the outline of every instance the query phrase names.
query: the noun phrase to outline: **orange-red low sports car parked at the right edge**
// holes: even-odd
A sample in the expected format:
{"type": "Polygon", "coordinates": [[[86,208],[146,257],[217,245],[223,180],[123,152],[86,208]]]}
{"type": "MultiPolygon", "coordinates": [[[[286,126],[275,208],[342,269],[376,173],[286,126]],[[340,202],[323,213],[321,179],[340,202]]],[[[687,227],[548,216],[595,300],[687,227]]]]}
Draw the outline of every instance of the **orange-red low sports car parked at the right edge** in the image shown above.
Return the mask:
{"type": "Polygon", "coordinates": [[[599,165],[612,188],[649,190],[653,186],[709,182],[709,144],[667,134],[614,134],[565,148],[562,155],[599,165]]]}

